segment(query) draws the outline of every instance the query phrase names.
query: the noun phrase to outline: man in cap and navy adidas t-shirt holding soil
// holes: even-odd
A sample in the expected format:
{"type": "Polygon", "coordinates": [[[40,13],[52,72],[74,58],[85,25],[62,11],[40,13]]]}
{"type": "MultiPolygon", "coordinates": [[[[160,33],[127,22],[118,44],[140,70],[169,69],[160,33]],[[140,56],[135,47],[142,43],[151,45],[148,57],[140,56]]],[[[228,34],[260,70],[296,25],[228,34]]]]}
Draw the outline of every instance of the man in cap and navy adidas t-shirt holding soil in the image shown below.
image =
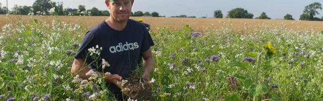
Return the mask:
{"type": "MultiPolygon", "coordinates": [[[[154,43],[149,32],[142,23],[129,19],[133,2],[134,0],[105,1],[111,16],[85,34],[71,69],[72,74],[88,79],[90,76],[86,76],[86,73],[91,69],[82,69],[84,63],[84,66],[87,66],[93,62],[91,56],[86,56],[88,48],[96,45],[102,47],[99,57],[107,61],[110,67],[105,67],[103,71],[102,66],[90,64],[90,67],[104,77],[106,86],[118,99],[122,99],[122,92],[117,81],[128,78],[131,71],[140,66],[142,60],[142,78],[149,81],[149,73],[154,66],[150,50],[154,43]],[[107,72],[111,75],[104,74],[107,72]]],[[[97,63],[102,63],[102,60],[98,60],[97,63]]]]}

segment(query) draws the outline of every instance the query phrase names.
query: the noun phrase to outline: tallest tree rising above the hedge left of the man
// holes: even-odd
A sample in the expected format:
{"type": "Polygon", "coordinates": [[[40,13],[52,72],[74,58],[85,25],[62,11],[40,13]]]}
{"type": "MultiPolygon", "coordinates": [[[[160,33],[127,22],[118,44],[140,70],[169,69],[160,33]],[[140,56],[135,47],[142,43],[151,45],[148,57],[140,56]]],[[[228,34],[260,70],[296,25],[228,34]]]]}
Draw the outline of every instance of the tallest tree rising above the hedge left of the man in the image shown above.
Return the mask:
{"type": "Polygon", "coordinates": [[[50,0],[36,0],[32,5],[34,14],[49,14],[49,10],[55,7],[56,3],[51,2],[50,0]]]}

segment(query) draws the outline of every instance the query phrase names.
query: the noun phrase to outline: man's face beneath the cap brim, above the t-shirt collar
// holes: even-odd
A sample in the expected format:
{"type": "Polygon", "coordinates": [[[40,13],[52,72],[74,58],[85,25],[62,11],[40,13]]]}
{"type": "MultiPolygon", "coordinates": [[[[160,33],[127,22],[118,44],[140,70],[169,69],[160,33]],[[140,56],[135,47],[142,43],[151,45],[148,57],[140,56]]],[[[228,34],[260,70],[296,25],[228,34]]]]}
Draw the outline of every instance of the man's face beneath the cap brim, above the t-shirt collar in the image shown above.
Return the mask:
{"type": "Polygon", "coordinates": [[[124,22],[129,19],[132,7],[131,0],[106,1],[105,4],[110,9],[110,15],[114,20],[124,22]]]}

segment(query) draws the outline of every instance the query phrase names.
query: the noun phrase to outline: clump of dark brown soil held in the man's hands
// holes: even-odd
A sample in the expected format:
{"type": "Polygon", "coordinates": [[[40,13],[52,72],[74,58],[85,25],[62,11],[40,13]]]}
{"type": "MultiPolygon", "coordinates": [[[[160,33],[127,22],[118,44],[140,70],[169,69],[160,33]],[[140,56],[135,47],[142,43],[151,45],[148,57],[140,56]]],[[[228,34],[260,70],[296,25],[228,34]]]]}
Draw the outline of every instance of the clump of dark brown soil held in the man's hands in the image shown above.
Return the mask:
{"type": "Polygon", "coordinates": [[[129,88],[129,91],[123,91],[124,94],[128,95],[132,99],[137,100],[148,100],[152,96],[151,85],[149,82],[144,81],[142,78],[132,76],[123,88],[129,88]]]}

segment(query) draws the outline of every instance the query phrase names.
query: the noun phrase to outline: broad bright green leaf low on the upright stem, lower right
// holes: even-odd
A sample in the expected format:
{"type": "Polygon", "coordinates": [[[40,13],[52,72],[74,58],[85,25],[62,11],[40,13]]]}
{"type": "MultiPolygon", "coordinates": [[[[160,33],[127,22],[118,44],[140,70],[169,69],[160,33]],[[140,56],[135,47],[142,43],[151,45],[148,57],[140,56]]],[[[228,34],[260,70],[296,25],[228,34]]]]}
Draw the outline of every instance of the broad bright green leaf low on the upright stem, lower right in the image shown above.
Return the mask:
{"type": "Polygon", "coordinates": [[[258,95],[263,95],[266,94],[268,92],[268,89],[266,86],[258,84],[258,85],[251,85],[248,88],[248,91],[252,93],[252,95],[254,96],[258,96],[258,95]]]}

